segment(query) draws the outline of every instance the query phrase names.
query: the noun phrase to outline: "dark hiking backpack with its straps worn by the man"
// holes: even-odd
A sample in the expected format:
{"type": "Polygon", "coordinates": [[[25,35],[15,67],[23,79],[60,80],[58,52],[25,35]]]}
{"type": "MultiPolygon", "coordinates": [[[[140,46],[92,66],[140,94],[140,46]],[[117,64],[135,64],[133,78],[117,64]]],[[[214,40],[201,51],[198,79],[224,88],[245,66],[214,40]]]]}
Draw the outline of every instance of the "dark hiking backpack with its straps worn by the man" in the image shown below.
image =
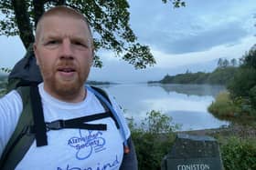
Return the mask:
{"type": "Polygon", "coordinates": [[[46,135],[48,130],[59,130],[60,128],[105,130],[106,125],[89,125],[83,124],[83,122],[101,119],[108,116],[112,117],[116,127],[122,131],[124,137],[124,153],[127,154],[129,152],[123,126],[119,117],[112,108],[111,101],[105,91],[101,88],[87,85],[87,89],[96,95],[101,102],[101,105],[106,111],[105,113],[45,123],[40,95],[37,89],[37,85],[41,82],[42,76],[38,66],[36,65],[36,57],[34,56],[32,45],[30,45],[25,57],[15,65],[8,77],[6,91],[8,93],[11,90],[16,89],[23,101],[23,111],[19,117],[16,129],[13,135],[11,135],[11,138],[5,146],[3,154],[1,155],[1,170],[15,169],[16,165],[21,161],[23,156],[26,155],[27,150],[35,139],[37,146],[48,145],[46,135]]]}

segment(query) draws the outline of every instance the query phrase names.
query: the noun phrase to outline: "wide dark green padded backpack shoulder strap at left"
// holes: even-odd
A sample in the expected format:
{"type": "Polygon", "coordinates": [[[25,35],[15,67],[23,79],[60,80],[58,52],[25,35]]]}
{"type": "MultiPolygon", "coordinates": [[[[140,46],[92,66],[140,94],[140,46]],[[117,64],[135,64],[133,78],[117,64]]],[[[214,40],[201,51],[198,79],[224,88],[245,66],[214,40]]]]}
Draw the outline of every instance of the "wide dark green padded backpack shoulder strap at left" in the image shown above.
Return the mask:
{"type": "Polygon", "coordinates": [[[31,100],[29,97],[30,88],[29,86],[18,87],[16,91],[22,98],[23,111],[19,117],[16,129],[1,156],[0,169],[2,170],[15,169],[35,140],[35,135],[27,135],[27,128],[29,125],[33,125],[31,100]]]}

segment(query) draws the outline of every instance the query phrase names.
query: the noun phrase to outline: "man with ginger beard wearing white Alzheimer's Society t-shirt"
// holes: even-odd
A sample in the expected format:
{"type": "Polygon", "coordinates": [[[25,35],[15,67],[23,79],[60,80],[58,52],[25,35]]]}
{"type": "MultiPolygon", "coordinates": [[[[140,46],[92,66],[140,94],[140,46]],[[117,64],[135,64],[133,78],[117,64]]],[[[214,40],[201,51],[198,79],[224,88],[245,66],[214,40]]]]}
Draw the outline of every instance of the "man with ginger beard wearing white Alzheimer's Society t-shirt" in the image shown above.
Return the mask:
{"type": "MultiPolygon", "coordinates": [[[[105,111],[99,99],[84,87],[93,61],[93,42],[83,15],[64,6],[48,10],[37,24],[34,52],[44,80],[38,91],[45,122],[105,111]]],[[[120,129],[111,117],[106,117],[90,122],[106,125],[106,131],[48,131],[48,145],[37,146],[34,141],[16,169],[136,169],[130,130],[119,106],[110,98],[125,140],[129,139],[129,153],[124,153],[120,129]]],[[[23,105],[16,90],[0,99],[0,155],[15,131],[23,105]]]]}

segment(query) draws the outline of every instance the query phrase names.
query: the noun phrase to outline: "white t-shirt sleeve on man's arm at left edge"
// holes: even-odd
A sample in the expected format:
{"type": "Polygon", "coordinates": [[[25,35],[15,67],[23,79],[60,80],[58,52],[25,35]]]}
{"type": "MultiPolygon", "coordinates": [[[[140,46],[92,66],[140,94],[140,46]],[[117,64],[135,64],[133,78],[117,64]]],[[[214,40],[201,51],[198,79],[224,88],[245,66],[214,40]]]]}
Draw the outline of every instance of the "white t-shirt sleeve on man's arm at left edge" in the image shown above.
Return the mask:
{"type": "Polygon", "coordinates": [[[0,155],[14,133],[23,105],[16,90],[0,98],[0,155]]]}

